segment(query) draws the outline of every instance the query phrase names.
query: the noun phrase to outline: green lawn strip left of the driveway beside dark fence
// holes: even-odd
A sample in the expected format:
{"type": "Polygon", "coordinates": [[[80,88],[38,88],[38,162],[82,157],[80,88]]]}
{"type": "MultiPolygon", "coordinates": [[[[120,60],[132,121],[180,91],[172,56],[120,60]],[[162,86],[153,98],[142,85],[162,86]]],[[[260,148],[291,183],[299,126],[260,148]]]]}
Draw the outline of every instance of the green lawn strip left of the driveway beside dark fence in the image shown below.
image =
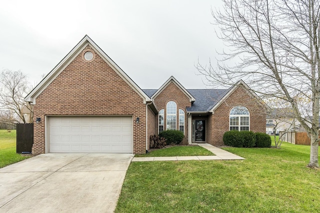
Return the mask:
{"type": "Polygon", "coordinates": [[[16,154],[16,131],[0,130],[0,168],[22,161],[26,156],[16,154]]]}

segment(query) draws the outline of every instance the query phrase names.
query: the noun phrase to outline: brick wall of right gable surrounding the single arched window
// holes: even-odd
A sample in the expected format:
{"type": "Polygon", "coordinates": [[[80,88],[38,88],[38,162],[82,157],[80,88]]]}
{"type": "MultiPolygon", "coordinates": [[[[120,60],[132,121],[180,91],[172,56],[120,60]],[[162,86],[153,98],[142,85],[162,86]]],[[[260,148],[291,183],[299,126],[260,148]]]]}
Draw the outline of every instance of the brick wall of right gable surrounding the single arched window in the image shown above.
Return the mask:
{"type": "Polygon", "coordinates": [[[265,108],[245,89],[238,87],[207,118],[206,143],[223,145],[222,136],[229,130],[229,113],[234,106],[244,106],[250,112],[250,131],[265,133],[265,108]]]}

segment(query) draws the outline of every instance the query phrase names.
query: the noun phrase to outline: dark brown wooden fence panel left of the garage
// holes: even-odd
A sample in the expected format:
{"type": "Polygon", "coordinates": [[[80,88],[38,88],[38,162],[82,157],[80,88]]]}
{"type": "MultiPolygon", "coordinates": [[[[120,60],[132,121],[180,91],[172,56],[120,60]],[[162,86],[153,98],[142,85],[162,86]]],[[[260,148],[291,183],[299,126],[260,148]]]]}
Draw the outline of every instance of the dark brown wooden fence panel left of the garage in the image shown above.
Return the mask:
{"type": "Polygon", "coordinates": [[[16,124],[16,153],[31,153],[33,124],[16,124]]]}

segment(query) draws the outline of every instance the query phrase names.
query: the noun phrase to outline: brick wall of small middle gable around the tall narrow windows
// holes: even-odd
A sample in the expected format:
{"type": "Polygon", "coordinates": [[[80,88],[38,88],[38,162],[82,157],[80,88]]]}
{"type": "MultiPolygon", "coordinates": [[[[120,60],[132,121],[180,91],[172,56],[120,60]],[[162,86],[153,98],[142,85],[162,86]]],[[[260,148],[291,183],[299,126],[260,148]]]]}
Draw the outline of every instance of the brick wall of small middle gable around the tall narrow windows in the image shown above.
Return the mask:
{"type": "MultiPolygon", "coordinates": [[[[179,129],[179,109],[182,109],[184,111],[184,138],[182,140],[183,144],[186,144],[188,142],[188,120],[186,115],[186,107],[191,106],[191,102],[189,101],[189,98],[177,87],[173,82],[170,82],[155,98],[154,103],[157,108],[157,110],[164,109],[164,130],[166,128],[166,104],[169,101],[174,101],[176,103],[176,129],[179,129]]],[[[157,127],[156,127],[157,128],[157,127]]],[[[156,131],[157,132],[157,131],[156,131]]]]}

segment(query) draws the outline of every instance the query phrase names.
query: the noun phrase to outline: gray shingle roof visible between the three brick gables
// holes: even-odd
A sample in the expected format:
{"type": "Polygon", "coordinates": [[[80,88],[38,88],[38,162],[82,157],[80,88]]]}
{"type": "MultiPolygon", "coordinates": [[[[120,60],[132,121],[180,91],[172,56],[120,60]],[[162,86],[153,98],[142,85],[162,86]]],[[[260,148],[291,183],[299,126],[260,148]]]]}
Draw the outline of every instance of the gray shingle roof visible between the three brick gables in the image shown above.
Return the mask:
{"type": "MultiPolygon", "coordinates": [[[[230,90],[229,89],[187,89],[195,98],[191,107],[187,107],[187,112],[208,112],[212,107],[221,100],[221,98],[230,90]]],[[[143,89],[143,92],[151,97],[156,89],[143,89]]]]}

